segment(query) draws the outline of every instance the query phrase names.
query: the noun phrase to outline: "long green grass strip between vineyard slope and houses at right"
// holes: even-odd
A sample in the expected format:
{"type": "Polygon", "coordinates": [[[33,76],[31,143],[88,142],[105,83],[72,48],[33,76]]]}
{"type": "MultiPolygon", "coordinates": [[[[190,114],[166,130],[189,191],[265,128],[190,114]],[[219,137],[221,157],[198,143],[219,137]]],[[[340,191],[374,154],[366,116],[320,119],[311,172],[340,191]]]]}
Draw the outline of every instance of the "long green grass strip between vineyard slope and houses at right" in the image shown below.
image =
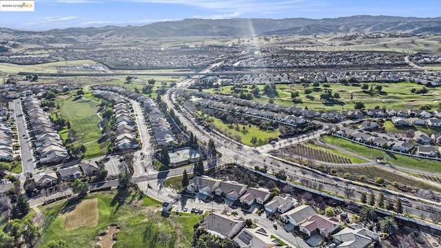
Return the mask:
{"type": "Polygon", "coordinates": [[[414,158],[411,156],[404,156],[392,152],[384,153],[382,150],[358,145],[356,143],[352,143],[351,141],[347,141],[343,138],[338,138],[335,136],[325,136],[322,138],[322,141],[331,145],[342,147],[343,149],[347,149],[349,152],[360,154],[361,156],[365,156],[366,158],[374,159],[385,154],[384,161],[388,161],[388,163],[391,165],[441,174],[440,161],[434,161],[424,158],[414,158]]]}

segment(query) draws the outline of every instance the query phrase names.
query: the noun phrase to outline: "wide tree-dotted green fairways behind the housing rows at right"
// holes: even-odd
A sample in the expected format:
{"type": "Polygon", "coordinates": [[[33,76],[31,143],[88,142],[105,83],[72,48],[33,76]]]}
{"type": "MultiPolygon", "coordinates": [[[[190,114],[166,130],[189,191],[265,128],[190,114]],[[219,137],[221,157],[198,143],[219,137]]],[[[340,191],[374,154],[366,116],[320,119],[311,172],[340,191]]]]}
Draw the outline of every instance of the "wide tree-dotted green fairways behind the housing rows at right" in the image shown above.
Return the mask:
{"type": "MultiPolygon", "coordinates": [[[[326,89],[322,84],[320,84],[320,87],[316,89],[311,86],[310,88],[312,93],[309,95],[304,93],[305,87],[303,87],[301,84],[278,84],[276,85],[277,95],[274,97],[274,103],[285,106],[307,106],[310,110],[353,110],[354,103],[358,101],[365,103],[366,108],[387,106],[387,108],[394,109],[405,109],[407,107],[418,108],[419,105],[423,104],[435,106],[440,103],[440,87],[431,87],[429,88],[428,94],[422,95],[411,94],[411,88],[420,89],[423,87],[422,85],[417,85],[415,83],[368,83],[368,85],[369,87],[371,87],[371,85],[381,85],[382,91],[377,92],[376,90],[373,90],[364,92],[360,86],[329,83],[329,89],[334,93],[339,93],[340,99],[338,99],[338,101],[326,102],[320,100],[320,94],[322,94],[326,89]],[[291,99],[291,92],[299,92],[300,96],[296,98],[296,101],[291,99]]],[[[260,88],[260,92],[263,92],[263,85],[258,87],[260,88]]],[[[248,92],[251,92],[251,90],[247,88],[244,88],[243,90],[248,90],[248,92]]],[[[209,89],[205,91],[219,92],[220,94],[232,94],[231,86],[223,86],[219,89],[209,89]]],[[[254,97],[254,101],[267,103],[269,101],[269,97],[260,95],[259,97],[254,97]]]]}

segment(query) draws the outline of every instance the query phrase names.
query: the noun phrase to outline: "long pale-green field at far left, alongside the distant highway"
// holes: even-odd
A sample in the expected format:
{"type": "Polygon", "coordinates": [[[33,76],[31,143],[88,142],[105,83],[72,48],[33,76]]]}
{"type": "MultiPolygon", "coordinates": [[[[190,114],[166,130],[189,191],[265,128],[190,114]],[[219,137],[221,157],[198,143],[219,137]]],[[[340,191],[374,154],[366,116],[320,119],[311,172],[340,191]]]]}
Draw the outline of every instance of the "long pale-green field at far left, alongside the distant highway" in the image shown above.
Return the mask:
{"type": "MultiPolygon", "coordinates": [[[[98,63],[89,59],[78,60],[78,61],[59,61],[52,63],[42,63],[37,65],[16,65],[12,63],[0,63],[0,71],[6,73],[18,73],[18,72],[45,72],[45,73],[57,73],[59,66],[77,66],[83,64],[97,65],[98,63]]],[[[90,73],[90,71],[79,71],[72,73],[90,73]]]]}

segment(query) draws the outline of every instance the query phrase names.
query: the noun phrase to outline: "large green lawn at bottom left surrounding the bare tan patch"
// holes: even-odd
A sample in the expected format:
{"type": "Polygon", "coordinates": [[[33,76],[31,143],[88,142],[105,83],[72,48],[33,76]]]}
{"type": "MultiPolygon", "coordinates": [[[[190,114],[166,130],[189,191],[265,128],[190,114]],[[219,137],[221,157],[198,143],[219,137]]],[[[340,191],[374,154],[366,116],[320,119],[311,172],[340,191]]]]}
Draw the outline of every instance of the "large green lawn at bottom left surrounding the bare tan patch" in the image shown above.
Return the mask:
{"type": "Polygon", "coordinates": [[[75,205],[79,200],[65,200],[42,206],[45,214],[43,244],[50,240],[63,239],[68,247],[96,247],[98,234],[108,225],[121,227],[116,236],[114,247],[190,247],[193,238],[193,225],[199,220],[198,215],[172,213],[169,217],[161,216],[161,203],[135,194],[121,192],[100,192],[85,196],[85,199],[98,199],[99,220],[96,227],[79,227],[67,231],[62,224],[60,210],[75,205]],[[120,205],[122,203],[122,205],[120,205]],[[166,242],[161,238],[166,236],[166,242]]]}

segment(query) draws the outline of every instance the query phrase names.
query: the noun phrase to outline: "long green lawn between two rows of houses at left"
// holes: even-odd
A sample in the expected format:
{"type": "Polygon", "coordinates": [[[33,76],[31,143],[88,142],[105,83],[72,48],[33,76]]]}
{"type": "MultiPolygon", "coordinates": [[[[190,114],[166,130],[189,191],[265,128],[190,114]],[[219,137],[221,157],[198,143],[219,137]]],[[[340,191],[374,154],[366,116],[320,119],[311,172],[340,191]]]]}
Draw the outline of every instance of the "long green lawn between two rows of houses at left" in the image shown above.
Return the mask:
{"type": "MultiPolygon", "coordinates": [[[[71,128],[76,131],[80,143],[88,143],[85,145],[84,158],[105,154],[107,152],[105,143],[100,144],[96,141],[101,138],[101,130],[98,127],[101,119],[97,115],[99,103],[90,99],[75,100],[74,96],[70,95],[57,98],[56,103],[60,105],[59,114],[70,121],[71,128]]],[[[68,138],[68,130],[61,130],[60,135],[63,139],[68,138]]]]}

